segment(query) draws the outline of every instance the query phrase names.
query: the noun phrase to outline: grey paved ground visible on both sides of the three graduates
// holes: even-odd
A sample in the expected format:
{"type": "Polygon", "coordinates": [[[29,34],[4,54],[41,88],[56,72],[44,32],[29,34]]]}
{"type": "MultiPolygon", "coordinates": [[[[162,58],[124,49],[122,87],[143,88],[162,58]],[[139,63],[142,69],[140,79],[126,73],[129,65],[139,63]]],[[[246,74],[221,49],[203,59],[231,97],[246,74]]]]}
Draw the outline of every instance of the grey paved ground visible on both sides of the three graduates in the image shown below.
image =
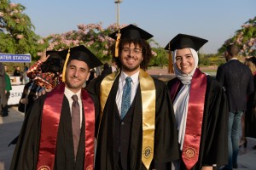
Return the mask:
{"type": "MultiPolygon", "coordinates": [[[[24,114],[17,111],[16,106],[9,108],[9,116],[0,117],[0,170],[8,170],[10,167],[15,145],[8,147],[8,144],[20,133],[23,119],[24,114]]],[[[240,149],[237,170],[256,170],[255,144],[256,139],[247,138],[247,148],[240,149]]]]}

